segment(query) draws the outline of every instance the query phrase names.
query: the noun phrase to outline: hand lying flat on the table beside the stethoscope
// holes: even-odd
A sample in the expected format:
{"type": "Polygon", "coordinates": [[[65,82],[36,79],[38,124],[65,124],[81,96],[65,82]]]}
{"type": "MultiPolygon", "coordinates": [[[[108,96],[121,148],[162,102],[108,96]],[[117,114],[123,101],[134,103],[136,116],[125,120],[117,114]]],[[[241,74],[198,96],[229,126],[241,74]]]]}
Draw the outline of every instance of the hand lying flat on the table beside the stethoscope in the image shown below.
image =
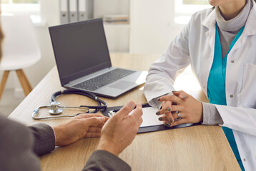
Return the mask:
{"type": "Polygon", "coordinates": [[[102,127],[107,120],[107,117],[96,113],[77,115],[67,123],[53,127],[56,138],[55,145],[64,146],[81,138],[100,137],[102,127]]]}

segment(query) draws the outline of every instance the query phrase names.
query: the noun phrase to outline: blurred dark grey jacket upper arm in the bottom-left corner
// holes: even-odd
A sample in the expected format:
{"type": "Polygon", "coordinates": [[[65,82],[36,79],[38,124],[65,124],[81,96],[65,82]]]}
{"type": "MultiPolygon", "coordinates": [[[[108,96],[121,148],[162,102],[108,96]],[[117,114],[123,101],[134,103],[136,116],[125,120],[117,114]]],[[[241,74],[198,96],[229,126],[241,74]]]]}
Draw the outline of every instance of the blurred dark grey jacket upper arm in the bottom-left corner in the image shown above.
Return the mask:
{"type": "Polygon", "coordinates": [[[33,145],[29,128],[0,114],[0,170],[41,170],[33,145]]]}

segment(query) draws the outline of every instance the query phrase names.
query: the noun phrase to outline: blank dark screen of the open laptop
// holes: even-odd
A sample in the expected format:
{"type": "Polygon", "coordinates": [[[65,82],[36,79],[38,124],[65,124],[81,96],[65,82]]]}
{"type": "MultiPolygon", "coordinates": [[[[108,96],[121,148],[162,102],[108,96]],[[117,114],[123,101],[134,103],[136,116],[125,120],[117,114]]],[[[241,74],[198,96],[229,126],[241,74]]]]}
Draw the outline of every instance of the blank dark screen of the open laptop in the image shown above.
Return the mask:
{"type": "Polygon", "coordinates": [[[111,67],[102,19],[49,27],[61,86],[111,67]]]}

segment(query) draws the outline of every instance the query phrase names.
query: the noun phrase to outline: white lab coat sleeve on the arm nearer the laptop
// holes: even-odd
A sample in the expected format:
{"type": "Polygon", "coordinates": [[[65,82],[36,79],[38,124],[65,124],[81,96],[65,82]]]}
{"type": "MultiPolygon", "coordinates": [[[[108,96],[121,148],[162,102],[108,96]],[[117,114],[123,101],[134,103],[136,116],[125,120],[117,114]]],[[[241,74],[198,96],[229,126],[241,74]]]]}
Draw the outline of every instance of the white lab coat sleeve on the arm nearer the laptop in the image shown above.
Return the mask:
{"type": "Polygon", "coordinates": [[[187,24],[167,51],[157,61],[152,63],[144,86],[144,95],[149,105],[159,107],[155,99],[159,96],[171,93],[174,90],[173,83],[179,72],[186,68],[189,61],[189,26],[187,24]]]}

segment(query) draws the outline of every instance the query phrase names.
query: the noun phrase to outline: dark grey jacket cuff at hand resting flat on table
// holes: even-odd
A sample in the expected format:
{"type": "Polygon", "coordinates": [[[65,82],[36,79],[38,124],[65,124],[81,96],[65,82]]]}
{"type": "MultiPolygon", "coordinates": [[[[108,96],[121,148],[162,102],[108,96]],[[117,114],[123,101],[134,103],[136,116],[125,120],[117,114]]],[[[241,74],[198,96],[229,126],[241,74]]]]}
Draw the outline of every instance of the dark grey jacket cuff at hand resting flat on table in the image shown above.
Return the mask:
{"type": "Polygon", "coordinates": [[[55,135],[51,126],[44,123],[29,126],[29,130],[34,135],[33,150],[36,155],[44,155],[55,148],[55,135]]]}

